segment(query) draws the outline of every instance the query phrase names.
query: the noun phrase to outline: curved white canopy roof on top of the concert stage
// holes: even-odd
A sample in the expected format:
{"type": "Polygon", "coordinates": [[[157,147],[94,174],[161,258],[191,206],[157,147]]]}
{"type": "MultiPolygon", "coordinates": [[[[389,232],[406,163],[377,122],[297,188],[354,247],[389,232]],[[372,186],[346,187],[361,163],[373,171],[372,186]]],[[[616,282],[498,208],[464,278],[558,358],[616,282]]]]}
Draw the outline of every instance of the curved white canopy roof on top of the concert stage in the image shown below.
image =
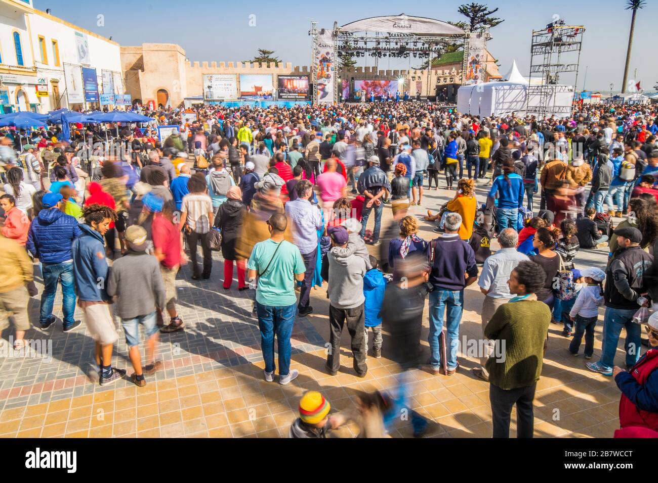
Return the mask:
{"type": "Polygon", "coordinates": [[[422,37],[449,37],[465,34],[461,28],[442,22],[442,20],[405,14],[363,18],[341,26],[340,31],[384,32],[388,34],[420,35],[422,37]]]}

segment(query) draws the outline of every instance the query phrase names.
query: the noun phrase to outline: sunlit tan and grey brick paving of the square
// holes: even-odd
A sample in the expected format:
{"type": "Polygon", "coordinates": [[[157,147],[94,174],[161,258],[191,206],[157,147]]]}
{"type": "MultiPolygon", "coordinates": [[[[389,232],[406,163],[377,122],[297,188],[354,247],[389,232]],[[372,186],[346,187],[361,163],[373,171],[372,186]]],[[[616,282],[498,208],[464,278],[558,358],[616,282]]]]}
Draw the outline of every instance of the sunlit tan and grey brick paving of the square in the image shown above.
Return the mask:
{"type": "MultiPolygon", "coordinates": [[[[483,200],[484,187],[478,189],[483,200]]],[[[453,193],[430,191],[426,206],[438,207],[453,193]]],[[[420,218],[426,206],[412,208],[420,218]]],[[[384,223],[390,210],[384,211],[384,223]]],[[[370,222],[372,223],[372,221],[370,222]]],[[[435,237],[423,221],[420,236],[435,237]]],[[[605,264],[602,250],[581,250],[577,265],[605,264]]],[[[61,319],[49,333],[33,329],[26,338],[51,344],[51,357],[8,352],[9,331],[3,333],[0,352],[0,436],[3,437],[280,437],[286,436],[296,417],[299,396],[309,389],[321,390],[336,410],[353,407],[359,390],[392,388],[397,384],[397,365],[386,358],[368,357],[368,375],[355,376],[351,368],[349,335],[342,340],[342,367],[336,376],[324,371],[328,341],[326,284],[313,290],[315,309],[297,318],[292,336],[293,369],[299,377],[287,386],[263,380],[263,359],[257,319],[252,317],[253,291],[220,288],[222,262],[214,254],[213,275],[208,281],[191,281],[190,268],[178,273],[179,312],[186,323],[180,333],[161,334],[158,358],[164,370],[147,376],[138,388],[128,380],[101,387],[86,377],[94,344],[83,324],[70,334],[61,331],[61,319]]],[[[40,281],[40,280],[38,280],[40,281]]],[[[38,283],[39,290],[41,285],[38,283]]],[[[476,285],[465,296],[461,336],[481,338],[479,310],[482,297],[476,285]]],[[[38,321],[38,299],[30,305],[32,321],[38,321]]],[[[428,353],[427,309],[422,344],[428,353]]],[[[602,313],[602,311],[601,311],[602,313]]],[[[61,317],[61,295],[55,301],[61,317]]],[[[76,318],[80,318],[76,311],[76,318]]],[[[611,378],[588,371],[584,359],[567,351],[569,339],[551,325],[549,348],[535,399],[535,434],[538,437],[609,437],[618,427],[619,390],[611,378]]],[[[122,330],[114,364],[128,369],[128,350],[122,330]]],[[[602,317],[596,328],[595,357],[601,349],[602,317]]],[[[384,336],[384,346],[388,338],[384,336]]],[[[621,345],[621,344],[620,344],[621,345]]],[[[142,346],[143,349],[143,346],[142,346]]],[[[618,361],[622,360],[622,350],[618,361]]],[[[412,371],[411,405],[430,419],[427,436],[490,437],[491,409],[488,384],[470,369],[478,361],[460,355],[461,370],[453,377],[412,371]]],[[[514,434],[514,415],[512,434],[514,434]]],[[[353,436],[349,425],[337,436],[353,436]]],[[[399,425],[392,436],[411,436],[409,425],[399,425]]]]}

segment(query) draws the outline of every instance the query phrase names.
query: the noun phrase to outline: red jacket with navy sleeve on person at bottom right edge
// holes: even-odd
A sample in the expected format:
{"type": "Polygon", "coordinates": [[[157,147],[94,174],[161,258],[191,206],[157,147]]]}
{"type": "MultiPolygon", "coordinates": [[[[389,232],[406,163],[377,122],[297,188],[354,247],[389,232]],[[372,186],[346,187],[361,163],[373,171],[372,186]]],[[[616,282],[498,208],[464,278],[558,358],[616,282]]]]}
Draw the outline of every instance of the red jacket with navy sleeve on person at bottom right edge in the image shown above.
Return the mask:
{"type": "Polygon", "coordinates": [[[619,401],[619,425],[622,428],[640,426],[658,430],[657,368],[658,348],[652,348],[640,357],[628,373],[619,373],[615,377],[622,392],[619,401]],[[647,411],[647,408],[651,410],[647,411]]]}

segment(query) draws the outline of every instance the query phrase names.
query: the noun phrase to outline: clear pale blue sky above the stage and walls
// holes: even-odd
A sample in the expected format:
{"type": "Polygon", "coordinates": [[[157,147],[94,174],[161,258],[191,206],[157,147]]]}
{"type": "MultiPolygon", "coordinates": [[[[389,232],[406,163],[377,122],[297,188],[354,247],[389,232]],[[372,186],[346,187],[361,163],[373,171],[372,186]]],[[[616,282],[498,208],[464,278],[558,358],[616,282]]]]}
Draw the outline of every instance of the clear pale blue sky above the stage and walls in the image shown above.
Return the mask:
{"type": "MultiPolygon", "coordinates": [[[[320,28],[331,28],[334,20],[339,25],[360,18],[395,15],[404,11],[408,15],[426,16],[439,20],[462,20],[457,13],[462,3],[471,0],[420,0],[403,3],[392,0],[367,1],[334,0],[330,2],[277,2],[251,0],[247,2],[197,0],[180,2],[127,1],[70,2],[64,0],[34,0],[39,10],[51,9],[52,14],[92,32],[112,36],[121,45],[141,43],[177,43],[190,60],[236,61],[252,58],[259,47],[276,51],[284,62],[309,65],[311,38],[308,35],[311,19],[320,28]],[[300,7],[304,5],[304,9],[300,7]],[[104,16],[104,26],[98,26],[97,16],[104,16]],[[249,16],[255,15],[256,26],[249,26],[249,16]]],[[[499,59],[501,74],[505,74],[513,59],[519,69],[528,75],[530,65],[530,34],[551,22],[553,15],[565,18],[567,24],[582,24],[584,34],[578,89],[582,89],[585,67],[588,66],[586,89],[608,91],[620,89],[626,43],[630,27],[630,11],[624,10],[624,0],[560,1],[563,5],[548,2],[513,0],[478,1],[490,7],[499,7],[495,16],[505,22],[492,29],[493,40],[488,44],[499,59]],[[522,8],[520,8],[522,7],[522,8]]],[[[630,78],[642,81],[645,91],[653,91],[658,82],[658,62],[655,61],[655,18],[658,2],[647,1],[636,21],[630,78]],[[651,60],[649,60],[651,59],[651,60]]],[[[411,58],[411,67],[415,66],[411,58]]],[[[374,60],[368,58],[368,65],[374,60]]],[[[419,62],[417,62],[419,63],[419,62]]],[[[364,65],[363,59],[359,62],[364,65]]],[[[409,60],[380,59],[380,68],[408,68],[409,60]]],[[[572,81],[565,78],[565,81],[572,81]]]]}

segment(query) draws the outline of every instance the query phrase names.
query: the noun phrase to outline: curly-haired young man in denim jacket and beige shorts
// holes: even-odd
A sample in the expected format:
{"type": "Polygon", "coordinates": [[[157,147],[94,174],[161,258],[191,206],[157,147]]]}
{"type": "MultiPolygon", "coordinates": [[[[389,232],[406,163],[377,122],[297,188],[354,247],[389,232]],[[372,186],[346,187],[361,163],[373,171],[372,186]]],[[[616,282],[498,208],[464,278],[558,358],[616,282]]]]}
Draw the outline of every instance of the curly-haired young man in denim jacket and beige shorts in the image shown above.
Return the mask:
{"type": "Polygon", "coordinates": [[[112,349],[118,339],[107,294],[109,266],[105,258],[104,236],[116,212],[101,204],[84,208],[82,235],[73,241],[73,271],[75,273],[78,306],[84,313],[89,334],[96,342],[96,365],[89,373],[92,380],[100,379],[107,386],[126,375],[125,369],[112,367],[112,349]]]}

